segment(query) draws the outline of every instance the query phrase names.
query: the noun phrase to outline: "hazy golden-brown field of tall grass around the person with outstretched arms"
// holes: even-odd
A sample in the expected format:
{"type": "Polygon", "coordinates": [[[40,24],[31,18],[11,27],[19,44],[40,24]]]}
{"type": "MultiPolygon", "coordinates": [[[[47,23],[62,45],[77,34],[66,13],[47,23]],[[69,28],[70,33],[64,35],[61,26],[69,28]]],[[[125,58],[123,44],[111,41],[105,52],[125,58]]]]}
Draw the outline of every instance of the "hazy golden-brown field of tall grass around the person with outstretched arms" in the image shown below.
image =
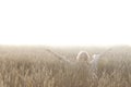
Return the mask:
{"type": "Polygon", "coordinates": [[[131,87],[131,47],[0,46],[0,87],[131,87]],[[90,65],[75,63],[81,50],[102,54],[97,77],[90,65]]]}

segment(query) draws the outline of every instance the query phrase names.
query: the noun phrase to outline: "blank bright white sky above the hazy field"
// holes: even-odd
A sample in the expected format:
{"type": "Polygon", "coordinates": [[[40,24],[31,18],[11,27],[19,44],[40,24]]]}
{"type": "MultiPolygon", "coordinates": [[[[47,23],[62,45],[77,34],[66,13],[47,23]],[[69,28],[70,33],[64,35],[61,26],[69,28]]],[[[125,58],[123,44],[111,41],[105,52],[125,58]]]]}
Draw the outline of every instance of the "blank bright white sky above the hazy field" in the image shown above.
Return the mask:
{"type": "Polygon", "coordinates": [[[0,45],[131,45],[130,0],[0,0],[0,45]]]}

